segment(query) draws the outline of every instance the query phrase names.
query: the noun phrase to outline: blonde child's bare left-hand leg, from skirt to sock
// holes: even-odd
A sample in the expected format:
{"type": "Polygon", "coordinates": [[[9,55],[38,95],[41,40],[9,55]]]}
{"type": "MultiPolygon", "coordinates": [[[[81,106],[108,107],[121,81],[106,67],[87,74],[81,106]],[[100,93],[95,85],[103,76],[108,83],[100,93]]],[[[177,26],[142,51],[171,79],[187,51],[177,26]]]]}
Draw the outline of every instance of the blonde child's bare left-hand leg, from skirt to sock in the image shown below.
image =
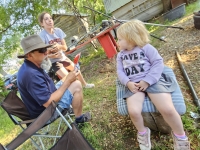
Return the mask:
{"type": "Polygon", "coordinates": [[[130,118],[139,132],[146,131],[142,117],[142,105],[144,102],[145,93],[137,92],[127,98],[127,107],[130,118]]]}

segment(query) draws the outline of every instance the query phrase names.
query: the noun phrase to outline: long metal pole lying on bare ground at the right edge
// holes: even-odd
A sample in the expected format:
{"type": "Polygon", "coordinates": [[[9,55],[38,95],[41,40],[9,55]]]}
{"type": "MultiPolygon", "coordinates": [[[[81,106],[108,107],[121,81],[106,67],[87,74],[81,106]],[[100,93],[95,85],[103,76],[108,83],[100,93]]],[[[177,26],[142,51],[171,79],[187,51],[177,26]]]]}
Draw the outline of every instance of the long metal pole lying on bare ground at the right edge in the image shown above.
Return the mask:
{"type": "Polygon", "coordinates": [[[184,67],[184,65],[182,64],[181,56],[179,55],[179,53],[178,53],[177,51],[176,51],[176,56],[177,56],[177,58],[178,58],[178,63],[179,63],[179,65],[180,65],[180,68],[181,68],[181,71],[182,71],[182,73],[183,73],[183,76],[185,77],[185,79],[186,79],[187,82],[188,82],[189,88],[190,88],[191,93],[192,93],[192,97],[194,98],[194,103],[195,103],[196,106],[198,107],[198,111],[200,111],[200,102],[199,102],[199,98],[198,98],[198,96],[197,96],[197,94],[196,94],[196,92],[195,92],[195,90],[194,90],[194,87],[193,87],[193,85],[192,85],[192,83],[191,83],[191,81],[190,81],[190,79],[189,79],[189,77],[188,77],[188,75],[187,75],[187,72],[186,72],[186,70],[185,70],[185,67],[184,67]]]}

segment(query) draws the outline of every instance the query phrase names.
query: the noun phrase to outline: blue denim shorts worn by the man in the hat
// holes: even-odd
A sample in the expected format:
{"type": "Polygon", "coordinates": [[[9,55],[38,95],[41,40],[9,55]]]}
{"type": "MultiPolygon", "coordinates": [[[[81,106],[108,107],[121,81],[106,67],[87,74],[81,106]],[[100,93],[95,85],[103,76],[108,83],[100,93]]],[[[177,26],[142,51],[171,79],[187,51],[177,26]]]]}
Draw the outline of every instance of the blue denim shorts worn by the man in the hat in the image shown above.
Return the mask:
{"type": "MultiPolygon", "coordinates": [[[[59,81],[56,83],[56,88],[58,89],[61,85],[63,84],[62,81],[59,81]]],[[[73,95],[71,92],[67,89],[65,93],[63,94],[62,98],[58,102],[58,106],[61,107],[62,109],[64,108],[69,108],[73,100],[73,95]]]]}

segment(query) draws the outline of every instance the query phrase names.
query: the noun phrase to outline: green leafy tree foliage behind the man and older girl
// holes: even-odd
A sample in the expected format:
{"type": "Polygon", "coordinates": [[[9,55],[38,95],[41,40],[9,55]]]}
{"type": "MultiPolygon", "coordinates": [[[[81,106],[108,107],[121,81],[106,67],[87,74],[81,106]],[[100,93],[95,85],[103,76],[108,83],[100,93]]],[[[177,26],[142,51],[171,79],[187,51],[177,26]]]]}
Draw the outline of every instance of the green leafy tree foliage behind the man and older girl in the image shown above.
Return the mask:
{"type": "Polygon", "coordinates": [[[0,5],[0,64],[12,57],[13,53],[22,51],[20,40],[34,33],[38,33],[38,14],[78,12],[89,15],[89,24],[95,25],[103,19],[102,15],[84,8],[86,5],[94,10],[105,12],[102,0],[10,0],[0,5]]]}

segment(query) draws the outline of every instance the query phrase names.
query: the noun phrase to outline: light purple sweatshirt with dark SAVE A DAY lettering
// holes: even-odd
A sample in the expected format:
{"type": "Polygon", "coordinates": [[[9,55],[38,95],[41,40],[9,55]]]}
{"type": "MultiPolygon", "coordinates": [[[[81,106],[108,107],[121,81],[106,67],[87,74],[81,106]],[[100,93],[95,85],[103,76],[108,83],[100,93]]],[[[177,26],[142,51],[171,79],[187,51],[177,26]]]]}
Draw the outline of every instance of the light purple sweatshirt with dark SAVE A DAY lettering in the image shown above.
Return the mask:
{"type": "Polygon", "coordinates": [[[151,86],[160,79],[163,69],[163,58],[151,44],[117,54],[117,75],[123,85],[143,80],[151,86]]]}

